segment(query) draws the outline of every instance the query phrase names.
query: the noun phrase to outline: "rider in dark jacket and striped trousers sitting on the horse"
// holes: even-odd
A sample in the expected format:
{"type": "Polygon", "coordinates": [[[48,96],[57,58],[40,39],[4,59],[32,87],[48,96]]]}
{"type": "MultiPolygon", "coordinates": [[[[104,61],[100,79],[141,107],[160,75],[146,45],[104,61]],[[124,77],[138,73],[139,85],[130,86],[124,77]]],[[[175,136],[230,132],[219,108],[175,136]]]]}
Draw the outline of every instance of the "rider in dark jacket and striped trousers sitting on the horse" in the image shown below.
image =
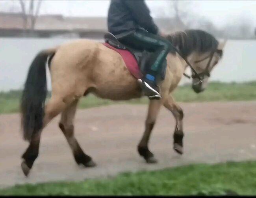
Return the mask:
{"type": "Polygon", "coordinates": [[[135,49],[154,52],[150,58],[153,64],[142,79],[139,79],[145,95],[150,99],[160,99],[156,84],[161,68],[171,44],[163,38],[157,25],[150,16],[144,0],[111,0],[108,11],[108,31],[122,44],[135,49]]]}

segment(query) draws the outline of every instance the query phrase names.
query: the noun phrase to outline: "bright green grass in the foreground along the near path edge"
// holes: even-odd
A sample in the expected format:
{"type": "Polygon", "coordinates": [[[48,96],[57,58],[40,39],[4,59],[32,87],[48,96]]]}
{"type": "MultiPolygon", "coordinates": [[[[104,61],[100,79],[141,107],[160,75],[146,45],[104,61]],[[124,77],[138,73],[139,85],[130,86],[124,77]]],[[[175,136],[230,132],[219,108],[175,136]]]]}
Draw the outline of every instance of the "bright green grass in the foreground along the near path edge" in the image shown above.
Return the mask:
{"type": "Polygon", "coordinates": [[[256,161],[195,164],[82,182],[19,185],[0,195],[256,195],[256,161]]]}

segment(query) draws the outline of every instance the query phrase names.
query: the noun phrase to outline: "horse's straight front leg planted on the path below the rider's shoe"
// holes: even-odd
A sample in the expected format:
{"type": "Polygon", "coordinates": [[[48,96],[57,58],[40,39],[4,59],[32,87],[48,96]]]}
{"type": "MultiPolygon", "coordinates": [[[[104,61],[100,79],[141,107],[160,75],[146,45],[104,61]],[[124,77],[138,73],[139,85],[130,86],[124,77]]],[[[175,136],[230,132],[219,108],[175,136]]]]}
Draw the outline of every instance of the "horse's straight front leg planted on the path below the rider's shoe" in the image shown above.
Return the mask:
{"type": "Polygon", "coordinates": [[[154,158],[154,154],[151,153],[148,149],[148,142],[161,105],[161,100],[150,100],[150,104],[148,106],[147,120],[145,122],[145,131],[138,145],[138,152],[141,156],[143,156],[147,163],[157,162],[157,160],[154,158]]]}

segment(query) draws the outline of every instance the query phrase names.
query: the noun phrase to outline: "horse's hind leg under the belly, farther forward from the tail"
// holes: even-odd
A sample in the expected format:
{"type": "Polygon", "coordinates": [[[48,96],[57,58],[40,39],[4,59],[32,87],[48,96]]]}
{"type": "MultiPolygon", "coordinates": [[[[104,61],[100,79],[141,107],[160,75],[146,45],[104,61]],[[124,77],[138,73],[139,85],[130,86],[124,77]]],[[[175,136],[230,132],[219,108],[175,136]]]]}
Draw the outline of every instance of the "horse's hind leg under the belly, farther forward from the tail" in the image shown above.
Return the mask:
{"type": "Polygon", "coordinates": [[[69,107],[67,107],[63,111],[63,113],[61,114],[61,120],[59,122],[59,128],[61,129],[67,139],[67,142],[69,143],[76,163],[83,164],[85,167],[93,167],[96,164],[93,162],[90,156],[83,153],[83,150],[81,149],[74,136],[73,120],[76,113],[77,104],[78,100],[75,100],[74,102],[72,102],[72,104],[69,105],[69,107]]]}

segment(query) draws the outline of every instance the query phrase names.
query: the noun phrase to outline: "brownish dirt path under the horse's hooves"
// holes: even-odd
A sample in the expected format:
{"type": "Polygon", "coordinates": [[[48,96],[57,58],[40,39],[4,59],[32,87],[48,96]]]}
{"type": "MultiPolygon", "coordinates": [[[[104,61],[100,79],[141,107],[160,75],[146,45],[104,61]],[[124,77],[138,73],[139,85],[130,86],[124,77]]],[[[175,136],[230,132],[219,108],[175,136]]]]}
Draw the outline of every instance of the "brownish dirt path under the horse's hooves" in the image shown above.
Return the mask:
{"type": "Polygon", "coordinates": [[[147,106],[113,105],[79,110],[75,135],[97,167],[86,169],[74,162],[58,129],[59,117],[43,131],[39,158],[30,176],[20,169],[27,143],[21,138],[19,115],[0,115],[0,187],[21,183],[115,175],[121,171],[154,170],[187,163],[256,159],[256,102],[181,104],[184,109],[184,155],[173,147],[174,118],[161,109],[152,132],[150,149],[157,164],[146,164],[137,154],[147,106]]]}

